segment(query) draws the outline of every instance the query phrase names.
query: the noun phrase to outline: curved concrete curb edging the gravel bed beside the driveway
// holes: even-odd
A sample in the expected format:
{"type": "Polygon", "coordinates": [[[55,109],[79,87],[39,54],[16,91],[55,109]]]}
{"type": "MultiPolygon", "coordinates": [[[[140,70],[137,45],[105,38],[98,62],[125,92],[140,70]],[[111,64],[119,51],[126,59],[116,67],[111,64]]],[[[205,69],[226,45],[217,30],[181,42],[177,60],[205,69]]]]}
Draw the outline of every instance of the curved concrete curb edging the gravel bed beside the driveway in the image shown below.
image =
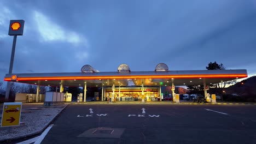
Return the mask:
{"type": "MultiPolygon", "coordinates": [[[[71,104],[71,103],[69,103],[69,104],[71,104]]],[[[50,120],[48,123],[46,123],[42,129],[40,129],[40,130],[38,130],[38,131],[36,131],[36,132],[34,132],[34,133],[27,134],[27,135],[16,136],[16,137],[13,137],[13,138],[11,138],[11,139],[2,139],[2,140],[0,140],[0,142],[1,142],[1,141],[7,141],[7,140],[20,139],[20,138],[22,138],[22,137],[37,135],[37,134],[41,133],[42,131],[44,131],[44,130],[48,127],[48,125],[49,125],[51,122],[53,122],[53,120],[54,120],[69,104],[67,104],[66,106],[64,106],[64,107],[60,110],[59,113],[57,113],[53,118],[51,118],[51,120],[50,120]]]]}

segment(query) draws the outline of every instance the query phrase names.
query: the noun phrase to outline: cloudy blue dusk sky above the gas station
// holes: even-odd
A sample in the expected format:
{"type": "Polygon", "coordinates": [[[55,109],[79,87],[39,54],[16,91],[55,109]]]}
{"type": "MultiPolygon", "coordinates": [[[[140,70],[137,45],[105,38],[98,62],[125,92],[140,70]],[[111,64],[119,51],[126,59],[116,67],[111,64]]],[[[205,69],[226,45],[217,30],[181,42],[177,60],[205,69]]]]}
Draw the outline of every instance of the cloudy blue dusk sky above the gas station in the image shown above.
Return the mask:
{"type": "Polygon", "coordinates": [[[202,70],[256,74],[256,0],[0,1],[0,81],[8,73],[9,21],[25,20],[13,73],[202,70]]]}

